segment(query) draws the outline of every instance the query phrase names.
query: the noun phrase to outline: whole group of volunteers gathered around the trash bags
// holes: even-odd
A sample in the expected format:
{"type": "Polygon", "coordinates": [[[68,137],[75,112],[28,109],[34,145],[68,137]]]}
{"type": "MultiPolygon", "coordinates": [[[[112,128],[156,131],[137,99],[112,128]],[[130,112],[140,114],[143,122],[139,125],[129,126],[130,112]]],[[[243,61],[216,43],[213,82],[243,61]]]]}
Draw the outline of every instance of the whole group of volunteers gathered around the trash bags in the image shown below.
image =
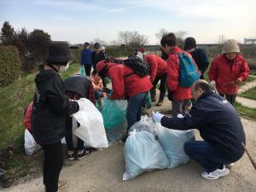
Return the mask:
{"type": "MultiPolygon", "coordinates": [[[[174,33],[169,33],[163,36],[160,44],[163,51],[161,57],[143,54],[144,50],[140,49],[143,54],[140,55],[140,60],[146,61],[150,68],[148,75],[140,76],[131,67],[117,60],[106,59],[105,48],[100,44],[94,44],[94,51],[91,51],[90,44],[84,43],[81,65],[84,66],[87,76],[73,75],[64,84],[58,73],[61,68],[67,69],[73,55],[65,42],[53,42],[49,46],[46,64],[35,79],[36,91],[32,104],[32,135],[44,149],[45,191],[55,192],[67,185],[59,182],[63,166],[61,138],[66,137],[68,156],[73,160],[70,115],[83,108],[77,102],[79,98],[84,97],[96,103],[96,96],[99,98],[106,95],[102,90],[106,87],[102,82],[106,77],[112,82],[112,92],[108,99],[128,99],[128,130],[140,120],[148,92],[152,102],[156,101],[156,85],[160,81],[160,96],[156,105],[163,104],[168,90],[168,98],[172,101],[172,118],[153,113],[153,119],[166,128],[198,129],[201,132],[204,141],[185,143],[184,151],[206,169],[201,174],[202,177],[223,177],[229,173],[224,165],[241,158],[244,152],[241,143],[245,143],[245,133],[236,109],[231,104],[236,99],[237,87],[241,81],[247,79],[249,70],[247,62],[239,55],[236,41],[226,42],[222,55],[212,61],[208,72],[209,84],[203,80],[209,61],[205,52],[196,47],[195,38],[187,38],[184,48],[181,49],[177,46],[174,33]],[[201,75],[201,79],[195,81],[192,87],[183,87],[179,82],[180,54],[188,55],[201,75]],[[91,67],[94,69],[92,75],[91,67]],[[219,95],[212,86],[218,90],[219,95]],[[189,112],[192,97],[195,103],[189,112]]],[[[83,141],[79,139],[78,160],[90,154],[90,150],[93,149],[84,148],[83,141]]]]}

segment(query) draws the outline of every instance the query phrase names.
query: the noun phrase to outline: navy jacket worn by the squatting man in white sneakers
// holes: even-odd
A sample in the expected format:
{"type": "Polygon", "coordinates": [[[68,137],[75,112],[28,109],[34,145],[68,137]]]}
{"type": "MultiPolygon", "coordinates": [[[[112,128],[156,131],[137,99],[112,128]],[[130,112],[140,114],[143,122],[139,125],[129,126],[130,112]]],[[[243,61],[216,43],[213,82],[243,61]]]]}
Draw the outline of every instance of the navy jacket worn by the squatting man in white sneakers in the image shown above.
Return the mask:
{"type": "Polygon", "coordinates": [[[174,130],[198,129],[205,142],[226,160],[235,162],[244,153],[241,143],[246,137],[236,109],[212,90],[204,92],[184,118],[163,117],[161,125],[174,130]]]}

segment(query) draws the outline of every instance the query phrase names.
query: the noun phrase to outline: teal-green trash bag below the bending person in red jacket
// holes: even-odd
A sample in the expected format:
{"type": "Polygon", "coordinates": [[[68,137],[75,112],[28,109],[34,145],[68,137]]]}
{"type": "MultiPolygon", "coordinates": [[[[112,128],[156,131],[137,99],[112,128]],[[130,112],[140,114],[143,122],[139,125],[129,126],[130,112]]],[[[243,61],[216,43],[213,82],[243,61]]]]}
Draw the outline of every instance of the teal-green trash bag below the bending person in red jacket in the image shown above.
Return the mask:
{"type": "Polygon", "coordinates": [[[126,100],[106,99],[102,105],[101,113],[106,130],[117,128],[124,123],[127,108],[126,100]]]}

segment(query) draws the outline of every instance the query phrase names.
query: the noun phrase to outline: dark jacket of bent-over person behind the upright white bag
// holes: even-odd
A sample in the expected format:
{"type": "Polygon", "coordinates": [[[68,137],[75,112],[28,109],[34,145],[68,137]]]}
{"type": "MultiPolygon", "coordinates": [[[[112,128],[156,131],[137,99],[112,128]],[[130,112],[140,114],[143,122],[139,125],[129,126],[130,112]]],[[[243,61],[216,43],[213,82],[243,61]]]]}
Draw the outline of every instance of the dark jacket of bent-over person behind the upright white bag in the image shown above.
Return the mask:
{"type": "Polygon", "coordinates": [[[88,98],[91,86],[90,78],[82,75],[73,75],[64,81],[65,91],[78,93],[82,98],[88,98]]]}

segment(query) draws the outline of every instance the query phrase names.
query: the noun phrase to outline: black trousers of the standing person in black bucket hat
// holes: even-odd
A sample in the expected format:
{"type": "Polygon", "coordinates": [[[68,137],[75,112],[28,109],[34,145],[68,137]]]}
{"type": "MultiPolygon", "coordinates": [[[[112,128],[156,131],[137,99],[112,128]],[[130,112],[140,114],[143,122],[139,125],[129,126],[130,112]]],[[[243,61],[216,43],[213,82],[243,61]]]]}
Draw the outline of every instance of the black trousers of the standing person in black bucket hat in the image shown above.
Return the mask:
{"type": "Polygon", "coordinates": [[[58,190],[61,168],[63,166],[61,141],[54,144],[43,145],[43,148],[45,192],[56,192],[58,190]]]}

